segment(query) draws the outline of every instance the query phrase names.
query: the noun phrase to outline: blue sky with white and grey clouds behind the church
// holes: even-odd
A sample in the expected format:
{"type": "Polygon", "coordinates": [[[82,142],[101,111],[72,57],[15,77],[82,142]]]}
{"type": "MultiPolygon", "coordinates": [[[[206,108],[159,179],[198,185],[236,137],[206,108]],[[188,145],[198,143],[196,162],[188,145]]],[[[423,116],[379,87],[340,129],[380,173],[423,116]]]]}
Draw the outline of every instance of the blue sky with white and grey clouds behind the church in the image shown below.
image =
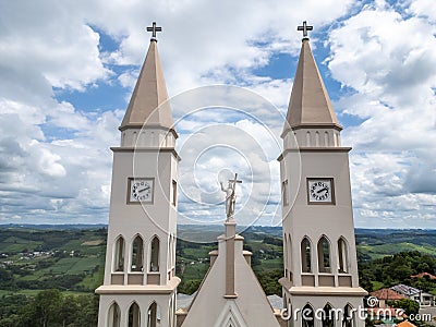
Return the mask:
{"type": "Polygon", "coordinates": [[[433,0],[0,0],[0,223],[108,221],[110,146],[153,21],[180,221],[222,220],[219,181],[239,172],[240,223],[280,223],[276,159],[307,21],[353,147],[355,226],[436,228],[433,0]]]}

